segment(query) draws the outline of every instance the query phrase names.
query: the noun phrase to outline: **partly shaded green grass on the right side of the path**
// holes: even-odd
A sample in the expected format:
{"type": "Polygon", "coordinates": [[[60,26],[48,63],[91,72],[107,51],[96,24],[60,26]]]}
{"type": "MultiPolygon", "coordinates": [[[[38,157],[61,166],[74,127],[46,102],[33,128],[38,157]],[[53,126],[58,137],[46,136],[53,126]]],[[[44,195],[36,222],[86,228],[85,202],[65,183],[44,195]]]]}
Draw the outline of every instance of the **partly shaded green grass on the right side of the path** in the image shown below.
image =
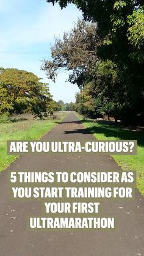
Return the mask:
{"type": "Polygon", "coordinates": [[[112,158],[121,166],[121,169],[137,171],[137,188],[144,195],[144,131],[122,128],[109,121],[84,120],[79,114],[77,117],[98,140],[137,140],[136,156],[113,155],[112,158]]]}

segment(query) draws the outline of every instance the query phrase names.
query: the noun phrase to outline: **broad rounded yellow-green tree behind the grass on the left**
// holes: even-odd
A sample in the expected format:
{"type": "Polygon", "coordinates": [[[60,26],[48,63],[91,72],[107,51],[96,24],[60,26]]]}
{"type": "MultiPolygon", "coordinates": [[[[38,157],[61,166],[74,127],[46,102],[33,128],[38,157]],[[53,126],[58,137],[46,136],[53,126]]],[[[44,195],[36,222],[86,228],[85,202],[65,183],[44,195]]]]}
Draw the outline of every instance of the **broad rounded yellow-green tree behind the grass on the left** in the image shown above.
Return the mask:
{"type": "Polygon", "coordinates": [[[21,114],[31,111],[40,115],[48,111],[52,100],[48,84],[31,72],[16,68],[1,68],[0,73],[0,113],[21,114]]]}

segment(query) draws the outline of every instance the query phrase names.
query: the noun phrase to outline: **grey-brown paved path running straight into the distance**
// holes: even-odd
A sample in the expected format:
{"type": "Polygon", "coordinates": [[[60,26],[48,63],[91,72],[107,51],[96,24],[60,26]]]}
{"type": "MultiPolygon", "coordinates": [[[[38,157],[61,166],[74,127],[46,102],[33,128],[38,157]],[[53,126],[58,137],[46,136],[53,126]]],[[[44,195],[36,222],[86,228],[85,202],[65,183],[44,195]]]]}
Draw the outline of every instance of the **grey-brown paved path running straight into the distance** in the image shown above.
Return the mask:
{"type": "MultiPolygon", "coordinates": [[[[50,131],[45,141],[93,140],[71,113],[50,131]]],[[[117,230],[96,232],[34,232],[27,230],[27,216],[40,216],[41,203],[10,201],[11,170],[118,170],[110,156],[20,156],[0,175],[0,256],[136,256],[144,255],[144,199],[136,192],[134,202],[103,203],[107,216],[116,216],[117,230]],[[120,208],[119,208],[120,207],[120,208]],[[123,208],[121,208],[123,207],[123,208]],[[14,211],[13,211],[14,210],[14,211]]]]}

